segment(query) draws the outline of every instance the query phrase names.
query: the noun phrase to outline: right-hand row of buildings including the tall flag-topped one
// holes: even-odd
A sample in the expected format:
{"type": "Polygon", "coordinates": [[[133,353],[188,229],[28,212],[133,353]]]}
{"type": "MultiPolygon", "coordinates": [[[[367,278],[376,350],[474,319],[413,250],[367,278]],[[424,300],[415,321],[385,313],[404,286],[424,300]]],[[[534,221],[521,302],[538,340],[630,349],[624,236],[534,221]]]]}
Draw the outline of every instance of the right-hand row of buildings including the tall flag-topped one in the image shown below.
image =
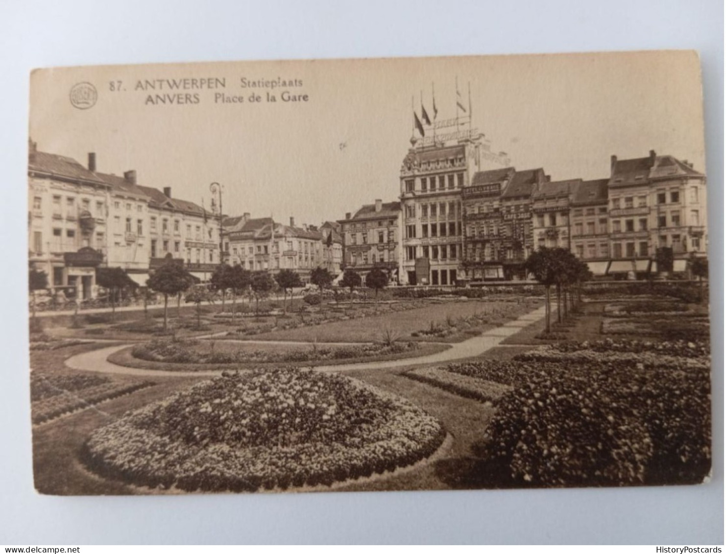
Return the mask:
{"type": "Polygon", "coordinates": [[[539,247],[567,248],[597,277],[685,272],[706,256],[706,176],[673,155],[619,160],[603,179],[552,181],[518,170],[476,129],[412,137],[399,200],[339,221],[343,266],[402,285],[526,278],[539,247]],[[667,250],[672,265],[658,267],[667,250]]]}

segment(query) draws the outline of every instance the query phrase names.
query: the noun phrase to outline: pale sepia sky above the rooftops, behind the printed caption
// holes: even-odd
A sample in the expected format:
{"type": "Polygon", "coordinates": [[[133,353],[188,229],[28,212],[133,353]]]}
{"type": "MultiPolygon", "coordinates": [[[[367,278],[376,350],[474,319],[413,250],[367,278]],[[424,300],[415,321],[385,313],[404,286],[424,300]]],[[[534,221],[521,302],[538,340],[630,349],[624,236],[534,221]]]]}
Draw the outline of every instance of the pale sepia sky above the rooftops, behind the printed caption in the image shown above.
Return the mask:
{"type": "Polygon", "coordinates": [[[597,179],[609,176],[612,154],[637,158],[652,149],[705,171],[699,62],[686,51],[36,70],[30,137],[38,150],[84,164],[96,152],[99,171],[135,169],[139,184],[171,187],[174,197],[207,207],[209,185],[219,182],[229,215],[319,224],[376,198],[396,200],[412,102],[420,116],[423,99],[433,117],[433,86],[438,120],[453,118],[456,83],[467,108],[470,88],[473,126],[518,169],[597,179]],[[180,78],[225,86],[144,84],[180,78]],[[242,78],[301,85],[250,88],[242,78]],[[95,105],[83,110],[69,96],[81,82],[97,90],[95,105]],[[307,100],[283,102],[283,90],[307,100]],[[187,103],[155,101],[177,92],[187,103]],[[266,102],[267,92],[277,102],[266,102]]]}

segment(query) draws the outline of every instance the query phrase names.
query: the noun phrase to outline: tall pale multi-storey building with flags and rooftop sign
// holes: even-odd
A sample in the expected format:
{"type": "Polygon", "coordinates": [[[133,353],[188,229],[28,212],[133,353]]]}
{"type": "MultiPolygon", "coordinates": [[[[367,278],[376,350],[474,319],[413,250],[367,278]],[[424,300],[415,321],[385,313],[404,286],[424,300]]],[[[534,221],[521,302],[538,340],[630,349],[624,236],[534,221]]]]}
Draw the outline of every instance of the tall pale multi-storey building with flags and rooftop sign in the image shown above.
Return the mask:
{"type": "MultiPolygon", "coordinates": [[[[433,90],[432,90],[433,93],[433,90]]],[[[413,103],[413,102],[412,102],[413,103]]],[[[429,117],[413,113],[411,147],[400,171],[401,284],[453,285],[465,279],[462,190],[479,171],[505,168],[506,152],[472,126],[471,102],[464,105],[457,85],[457,117],[439,120],[432,94],[429,117]]]]}

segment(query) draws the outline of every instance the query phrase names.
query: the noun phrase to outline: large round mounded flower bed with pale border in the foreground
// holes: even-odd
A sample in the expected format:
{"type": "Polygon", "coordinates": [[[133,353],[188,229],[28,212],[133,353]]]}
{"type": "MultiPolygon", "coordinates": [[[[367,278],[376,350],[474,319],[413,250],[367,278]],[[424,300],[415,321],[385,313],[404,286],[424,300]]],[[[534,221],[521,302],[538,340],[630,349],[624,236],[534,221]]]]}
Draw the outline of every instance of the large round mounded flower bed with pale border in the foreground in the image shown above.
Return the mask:
{"type": "Polygon", "coordinates": [[[96,431],[89,467],[131,484],[253,492],[330,485],[433,454],[444,430],[397,396],[290,368],[199,383],[96,431]]]}

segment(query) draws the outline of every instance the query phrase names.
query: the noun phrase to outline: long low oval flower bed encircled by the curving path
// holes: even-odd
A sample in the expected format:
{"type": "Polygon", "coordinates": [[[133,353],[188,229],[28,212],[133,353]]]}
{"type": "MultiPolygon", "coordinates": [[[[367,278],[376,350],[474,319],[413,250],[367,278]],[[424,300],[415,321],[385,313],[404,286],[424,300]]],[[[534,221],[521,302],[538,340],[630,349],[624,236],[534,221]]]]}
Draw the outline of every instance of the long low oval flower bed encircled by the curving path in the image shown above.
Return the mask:
{"type": "Polygon", "coordinates": [[[288,351],[240,350],[215,352],[203,350],[199,341],[151,341],[134,346],[131,354],[147,362],[183,364],[248,364],[266,362],[325,362],[349,358],[367,358],[406,354],[419,349],[414,342],[370,343],[356,346],[316,346],[288,351]]]}

